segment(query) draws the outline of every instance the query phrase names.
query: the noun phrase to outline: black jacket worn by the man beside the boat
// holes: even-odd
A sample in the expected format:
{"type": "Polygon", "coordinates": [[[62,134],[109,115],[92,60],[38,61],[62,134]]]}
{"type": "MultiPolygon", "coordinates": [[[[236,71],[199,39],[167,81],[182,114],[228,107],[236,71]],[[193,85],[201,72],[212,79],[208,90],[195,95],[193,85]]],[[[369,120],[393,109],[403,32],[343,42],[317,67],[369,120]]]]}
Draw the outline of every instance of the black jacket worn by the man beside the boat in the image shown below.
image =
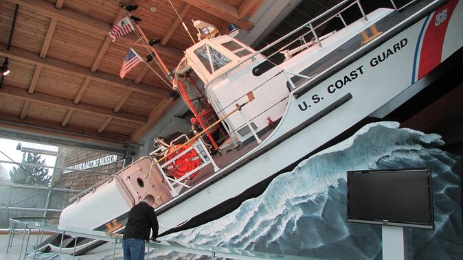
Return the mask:
{"type": "Polygon", "coordinates": [[[155,209],[142,201],[133,206],[131,211],[128,212],[128,221],[124,230],[123,239],[150,239],[150,231],[153,230],[151,237],[157,237],[159,231],[159,224],[155,209]]]}

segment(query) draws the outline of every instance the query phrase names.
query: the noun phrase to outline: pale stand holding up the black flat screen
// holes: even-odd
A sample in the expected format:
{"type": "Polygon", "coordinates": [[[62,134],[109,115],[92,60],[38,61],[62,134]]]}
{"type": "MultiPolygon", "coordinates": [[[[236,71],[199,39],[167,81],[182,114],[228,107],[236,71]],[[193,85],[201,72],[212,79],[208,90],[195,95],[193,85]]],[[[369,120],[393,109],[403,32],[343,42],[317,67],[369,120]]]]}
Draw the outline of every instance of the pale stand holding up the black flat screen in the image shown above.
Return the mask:
{"type": "Polygon", "coordinates": [[[405,259],[405,237],[401,226],[383,226],[383,260],[405,259]]]}

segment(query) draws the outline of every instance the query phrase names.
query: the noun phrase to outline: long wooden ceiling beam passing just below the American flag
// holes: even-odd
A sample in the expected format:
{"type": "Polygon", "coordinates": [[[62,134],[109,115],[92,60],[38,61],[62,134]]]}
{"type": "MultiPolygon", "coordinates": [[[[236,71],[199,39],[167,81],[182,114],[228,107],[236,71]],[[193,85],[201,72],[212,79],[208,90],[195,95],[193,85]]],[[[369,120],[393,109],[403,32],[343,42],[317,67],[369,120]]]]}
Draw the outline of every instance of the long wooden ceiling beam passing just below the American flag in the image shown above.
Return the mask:
{"type": "Polygon", "coordinates": [[[11,59],[16,59],[21,62],[28,64],[42,65],[56,71],[63,71],[65,73],[71,73],[74,75],[80,75],[82,78],[89,78],[95,82],[101,82],[111,86],[117,86],[124,89],[131,89],[144,95],[154,95],[156,97],[166,98],[168,97],[169,90],[167,88],[161,88],[159,86],[153,86],[148,84],[136,85],[131,80],[124,80],[118,75],[112,75],[101,71],[91,73],[87,67],[82,67],[77,64],[65,62],[63,60],[56,60],[54,58],[39,58],[34,52],[27,51],[25,49],[19,49],[11,47],[10,50],[6,49],[6,45],[0,43],[0,55],[8,56],[11,59]]]}

